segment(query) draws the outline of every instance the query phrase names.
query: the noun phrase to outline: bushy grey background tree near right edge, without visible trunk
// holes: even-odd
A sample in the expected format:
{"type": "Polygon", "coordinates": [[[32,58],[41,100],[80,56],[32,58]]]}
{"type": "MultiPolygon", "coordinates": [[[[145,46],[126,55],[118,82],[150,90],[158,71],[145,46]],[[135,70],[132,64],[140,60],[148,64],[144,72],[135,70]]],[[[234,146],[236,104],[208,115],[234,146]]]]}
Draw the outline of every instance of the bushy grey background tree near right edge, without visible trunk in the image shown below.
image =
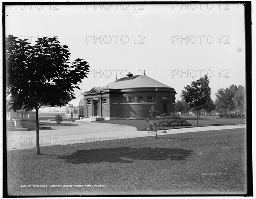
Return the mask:
{"type": "Polygon", "coordinates": [[[217,93],[215,93],[215,96],[217,97],[215,105],[219,113],[236,110],[236,105],[233,98],[237,90],[238,87],[233,84],[230,85],[229,88],[218,89],[217,93]]]}

